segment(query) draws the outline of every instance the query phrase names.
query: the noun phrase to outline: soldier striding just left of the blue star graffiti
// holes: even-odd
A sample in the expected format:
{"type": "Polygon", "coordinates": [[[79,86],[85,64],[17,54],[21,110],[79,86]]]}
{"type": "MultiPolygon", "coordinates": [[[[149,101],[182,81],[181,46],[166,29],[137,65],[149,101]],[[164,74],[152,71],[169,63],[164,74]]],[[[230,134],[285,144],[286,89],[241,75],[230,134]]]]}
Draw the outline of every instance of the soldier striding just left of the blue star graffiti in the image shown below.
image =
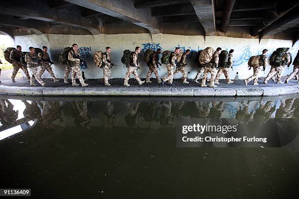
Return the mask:
{"type": "Polygon", "coordinates": [[[131,74],[133,74],[133,76],[135,77],[135,79],[138,81],[139,85],[143,84],[145,81],[140,80],[138,73],[136,71],[136,67],[139,67],[139,63],[138,63],[138,54],[140,53],[141,48],[139,46],[137,46],[135,48],[135,52],[131,53],[131,60],[132,63],[130,62],[128,65],[128,70],[125,76],[125,81],[124,81],[124,86],[130,86],[130,84],[128,84],[128,80],[131,76],[131,74]]]}

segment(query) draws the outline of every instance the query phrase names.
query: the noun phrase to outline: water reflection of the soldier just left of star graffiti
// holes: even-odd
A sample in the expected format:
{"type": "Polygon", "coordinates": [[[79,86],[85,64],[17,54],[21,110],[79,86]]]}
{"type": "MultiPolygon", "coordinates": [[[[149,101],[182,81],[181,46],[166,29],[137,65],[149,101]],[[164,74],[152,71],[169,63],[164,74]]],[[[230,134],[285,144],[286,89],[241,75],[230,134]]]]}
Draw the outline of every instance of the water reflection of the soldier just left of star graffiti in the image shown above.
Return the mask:
{"type": "Polygon", "coordinates": [[[125,117],[125,121],[129,127],[137,126],[139,127],[139,105],[140,101],[136,102],[134,106],[132,106],[128,101],[126,101],[126,105],[128,107],[128,115],[125,117]]]}

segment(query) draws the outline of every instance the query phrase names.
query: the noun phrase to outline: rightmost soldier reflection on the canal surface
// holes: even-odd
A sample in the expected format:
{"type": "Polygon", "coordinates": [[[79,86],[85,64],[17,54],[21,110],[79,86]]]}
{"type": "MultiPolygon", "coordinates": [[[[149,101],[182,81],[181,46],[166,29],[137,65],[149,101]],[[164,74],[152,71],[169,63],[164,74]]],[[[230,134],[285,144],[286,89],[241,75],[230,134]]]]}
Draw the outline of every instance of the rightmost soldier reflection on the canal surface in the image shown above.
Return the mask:
{"type": "Polygon", "coordinates": [[[276,110],[275,118],[292,118],[295,110],[295,106],[293,106],[294,101],[295,98],[281,100],[281,104],[276,110]]]}

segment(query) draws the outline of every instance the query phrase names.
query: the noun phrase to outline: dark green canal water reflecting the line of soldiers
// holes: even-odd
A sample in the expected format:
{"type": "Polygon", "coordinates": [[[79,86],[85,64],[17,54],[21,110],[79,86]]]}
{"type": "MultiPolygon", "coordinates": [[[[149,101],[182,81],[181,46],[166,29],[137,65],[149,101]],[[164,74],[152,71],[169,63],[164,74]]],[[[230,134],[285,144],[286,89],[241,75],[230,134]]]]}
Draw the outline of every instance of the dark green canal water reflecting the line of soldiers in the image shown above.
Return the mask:
{"type": "Polygon", "coordinates": [[[0,99],[0,188],[30,188],[32,198],[299,194],[296,95],[0,99]],[[182,144],[182,126],[196,123],[237,126],[209,138],[267,141],[182,144]]]}

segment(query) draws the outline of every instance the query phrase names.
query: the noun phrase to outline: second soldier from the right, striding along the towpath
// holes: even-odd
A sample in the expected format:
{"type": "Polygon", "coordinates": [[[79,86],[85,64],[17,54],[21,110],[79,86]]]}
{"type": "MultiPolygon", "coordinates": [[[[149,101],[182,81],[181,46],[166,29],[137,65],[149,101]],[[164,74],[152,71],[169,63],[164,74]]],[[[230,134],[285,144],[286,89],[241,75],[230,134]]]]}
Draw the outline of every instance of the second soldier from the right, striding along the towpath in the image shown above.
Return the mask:
{"type": "Polygon", "coordinates": [[[281,76],[282,71],[284,69],[284,66],[287,65],[291,60],[291,57],[289,55],[290,48],[287,48],[287,52],[282,56],[281,60],[283,60],[283,63],[280,66],[274,66],[274,68],[271,68],[270,72],[268,73],[267,77],[264,80],[264,83],[267,84],[268,80],[272,78],[277,73],[277,82],[278,84],[282,84],[281,76]]]}

